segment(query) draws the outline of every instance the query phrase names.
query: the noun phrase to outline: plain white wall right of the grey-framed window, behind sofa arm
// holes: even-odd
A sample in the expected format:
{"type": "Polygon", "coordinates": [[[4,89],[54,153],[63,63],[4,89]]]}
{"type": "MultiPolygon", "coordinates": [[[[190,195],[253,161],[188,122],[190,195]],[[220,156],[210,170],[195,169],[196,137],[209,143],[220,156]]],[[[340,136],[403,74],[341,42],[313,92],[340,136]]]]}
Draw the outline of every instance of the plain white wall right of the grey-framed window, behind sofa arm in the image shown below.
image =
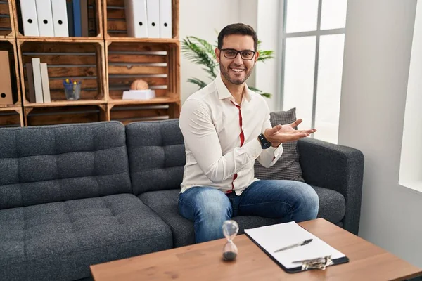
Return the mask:
{"type": "Polygon", "coordinates": [[[365,156],[359,235],[422,266],[422,194],[398,184],[415,11],[416,0],[349,1],[339,143],[365,156]]]}

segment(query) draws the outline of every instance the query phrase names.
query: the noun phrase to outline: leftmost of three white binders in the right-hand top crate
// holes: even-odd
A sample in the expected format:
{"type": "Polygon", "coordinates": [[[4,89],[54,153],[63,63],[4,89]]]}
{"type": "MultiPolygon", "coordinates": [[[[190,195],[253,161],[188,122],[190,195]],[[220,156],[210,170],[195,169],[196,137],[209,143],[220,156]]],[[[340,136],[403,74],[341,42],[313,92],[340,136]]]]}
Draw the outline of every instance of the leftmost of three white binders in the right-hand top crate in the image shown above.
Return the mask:
{"type": "Polygon", "coordinates": [[[124,0],[126,13],[127,36],[148,37],[148,23],[146,18],[146,0],[124,0]]]}

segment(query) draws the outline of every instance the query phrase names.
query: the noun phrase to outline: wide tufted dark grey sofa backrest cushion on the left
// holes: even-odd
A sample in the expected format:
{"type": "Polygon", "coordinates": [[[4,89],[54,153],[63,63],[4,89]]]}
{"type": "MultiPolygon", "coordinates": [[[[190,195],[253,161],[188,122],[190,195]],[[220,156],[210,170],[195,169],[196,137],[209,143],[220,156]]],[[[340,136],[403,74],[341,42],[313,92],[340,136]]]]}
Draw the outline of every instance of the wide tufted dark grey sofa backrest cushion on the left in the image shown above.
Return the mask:
{"type": "Polygon", "coordinates": [[[120,122],[0,129],[0,209],[132,192],[120,122]]]}

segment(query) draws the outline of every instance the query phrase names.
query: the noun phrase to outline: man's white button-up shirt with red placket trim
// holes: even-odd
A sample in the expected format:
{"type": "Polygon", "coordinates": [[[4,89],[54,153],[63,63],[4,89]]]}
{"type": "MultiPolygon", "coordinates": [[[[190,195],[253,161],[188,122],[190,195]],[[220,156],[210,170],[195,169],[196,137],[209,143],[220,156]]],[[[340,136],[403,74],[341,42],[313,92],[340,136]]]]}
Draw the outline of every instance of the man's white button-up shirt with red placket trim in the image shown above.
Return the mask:
{"type": "Polygon", "coordinates": [[[269,167],[283,152],[282,145],[262,150],[257,140],[260,133],[271,128],[264,98],[245,85],[238,105],[220,74],[186,99],[179,126],[186,148],[181,192],[204,185],[240,195],[257,181],[255,159],[269,167]]]}

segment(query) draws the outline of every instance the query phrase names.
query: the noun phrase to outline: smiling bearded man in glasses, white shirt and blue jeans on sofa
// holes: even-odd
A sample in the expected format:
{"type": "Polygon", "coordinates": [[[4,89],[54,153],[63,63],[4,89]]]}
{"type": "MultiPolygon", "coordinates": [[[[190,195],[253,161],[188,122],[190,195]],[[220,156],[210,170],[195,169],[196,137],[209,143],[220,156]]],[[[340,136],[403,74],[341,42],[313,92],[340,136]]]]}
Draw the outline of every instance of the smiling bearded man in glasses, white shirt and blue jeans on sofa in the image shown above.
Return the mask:
{"type": "Polygon", "coordinates": [[[248,25],[228,25],[215,49],[220,74],[193,93],[181,108],[186,165],[179,214],[194,222],[196,242],[222,238],[222,224],[233,216],[262,216],[280,222],[316,218],[318,195],[298,181],[257,180],[253,166],[272,166],[282,143],[315,129],[302,122],[271,127],[269,107],[245,84],[257,58],[257,34],[248,25]]]}

